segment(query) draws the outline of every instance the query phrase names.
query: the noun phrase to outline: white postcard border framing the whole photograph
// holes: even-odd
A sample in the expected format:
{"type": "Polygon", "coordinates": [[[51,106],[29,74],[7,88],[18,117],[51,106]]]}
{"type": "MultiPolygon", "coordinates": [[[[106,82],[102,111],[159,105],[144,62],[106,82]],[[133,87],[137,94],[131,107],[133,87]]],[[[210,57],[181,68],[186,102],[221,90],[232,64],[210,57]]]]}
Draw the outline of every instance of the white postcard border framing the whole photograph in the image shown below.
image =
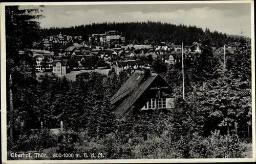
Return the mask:
{"type": "Polygon", "coordinates": [[[47,2],[47,3],[1,3],[1,135],[3,163],[151,163],[151,162],[251,162],[256,160],[255,127],[255,57],[254,57],[254,2],[245,1],[161,1],[161,2],[47,2]],[[211,158],[211,159],[108,159],[108,160],[7,160],[7,122],[6,122],[6,48],[5,48],[5,6],[11,5],[133,5],[133,4],[251,4],[251,69],[252,69],[252,158],[211,158]]]}

